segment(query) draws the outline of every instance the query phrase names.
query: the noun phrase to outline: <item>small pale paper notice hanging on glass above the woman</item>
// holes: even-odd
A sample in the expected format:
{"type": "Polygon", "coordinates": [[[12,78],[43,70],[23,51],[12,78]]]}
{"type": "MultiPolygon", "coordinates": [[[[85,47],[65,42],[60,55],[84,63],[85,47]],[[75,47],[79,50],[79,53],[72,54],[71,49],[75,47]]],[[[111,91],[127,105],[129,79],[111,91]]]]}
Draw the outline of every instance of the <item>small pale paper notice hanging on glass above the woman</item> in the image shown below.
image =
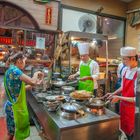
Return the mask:
{"type": "Polygon", "coordinates": [[[36,48],[45,49],[45,38],[44,37],[36,38],[36,48]]]}

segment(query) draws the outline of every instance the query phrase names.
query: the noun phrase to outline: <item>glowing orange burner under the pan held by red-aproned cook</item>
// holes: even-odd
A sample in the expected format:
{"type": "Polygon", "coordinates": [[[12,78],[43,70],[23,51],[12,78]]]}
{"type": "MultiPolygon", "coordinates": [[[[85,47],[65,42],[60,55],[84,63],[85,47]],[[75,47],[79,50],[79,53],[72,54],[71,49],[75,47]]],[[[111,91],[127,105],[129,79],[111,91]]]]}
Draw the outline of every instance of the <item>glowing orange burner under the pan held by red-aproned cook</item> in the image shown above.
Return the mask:
{"type": "Polygon", "coordinates": [[[99,116],[105,114],[105,108],[87,108],[87,111],[99,116]]]}

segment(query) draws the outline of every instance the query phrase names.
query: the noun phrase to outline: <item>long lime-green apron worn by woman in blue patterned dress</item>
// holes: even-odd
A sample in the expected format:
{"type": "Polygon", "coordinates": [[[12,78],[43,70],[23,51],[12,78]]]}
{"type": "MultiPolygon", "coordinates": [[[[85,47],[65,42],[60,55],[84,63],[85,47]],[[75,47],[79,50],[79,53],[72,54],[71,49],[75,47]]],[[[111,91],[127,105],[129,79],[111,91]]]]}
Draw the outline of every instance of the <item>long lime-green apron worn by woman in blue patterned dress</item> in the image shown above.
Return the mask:
{"type": "Polygon", "coordinates": [[[24,140],[30,135],[30,123],[29,123],[29,114],[26,104],[26,90],[25,83],[22,82],[21,89],[17,101],[14,102],[8,91],[6,85],[6,76],[4,77],[4,86],[9,96],[10,102],[12,103],[12,110],[14,115],[15,122],[15,139],[24,140]]]}

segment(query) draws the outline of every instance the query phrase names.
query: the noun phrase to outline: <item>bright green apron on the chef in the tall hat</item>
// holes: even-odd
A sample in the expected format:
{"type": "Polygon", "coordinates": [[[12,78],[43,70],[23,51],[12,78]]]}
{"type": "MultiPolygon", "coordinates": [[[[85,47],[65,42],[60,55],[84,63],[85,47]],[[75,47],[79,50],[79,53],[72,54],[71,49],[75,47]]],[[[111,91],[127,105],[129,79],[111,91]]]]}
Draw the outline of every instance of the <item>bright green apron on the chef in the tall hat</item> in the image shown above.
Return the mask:
{"type": "MultiPolygon", "coordinates": [[[[88,65],[80,66],[80,78],[85,77],[85,76],[91,76],[90,66],[89,66],[91,61],[92,60],[89,61],[88,65]]],[[[94,90],[93,80],[79,81],[78,89],[91,91],[93,93],[93,90],[94,90]]]]}

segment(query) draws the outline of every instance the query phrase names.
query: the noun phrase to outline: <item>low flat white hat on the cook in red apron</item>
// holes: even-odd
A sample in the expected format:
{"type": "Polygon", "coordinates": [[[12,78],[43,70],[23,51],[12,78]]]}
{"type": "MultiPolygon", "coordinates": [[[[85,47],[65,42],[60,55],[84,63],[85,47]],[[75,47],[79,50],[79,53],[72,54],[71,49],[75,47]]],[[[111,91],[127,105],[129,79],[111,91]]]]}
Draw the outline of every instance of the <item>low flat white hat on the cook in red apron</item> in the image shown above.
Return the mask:
{"type": "Polygon", "coordinates": [[[123,47],[120,49],[121,56],[136,56],[136,48],[133,47],[123,47]]]}

